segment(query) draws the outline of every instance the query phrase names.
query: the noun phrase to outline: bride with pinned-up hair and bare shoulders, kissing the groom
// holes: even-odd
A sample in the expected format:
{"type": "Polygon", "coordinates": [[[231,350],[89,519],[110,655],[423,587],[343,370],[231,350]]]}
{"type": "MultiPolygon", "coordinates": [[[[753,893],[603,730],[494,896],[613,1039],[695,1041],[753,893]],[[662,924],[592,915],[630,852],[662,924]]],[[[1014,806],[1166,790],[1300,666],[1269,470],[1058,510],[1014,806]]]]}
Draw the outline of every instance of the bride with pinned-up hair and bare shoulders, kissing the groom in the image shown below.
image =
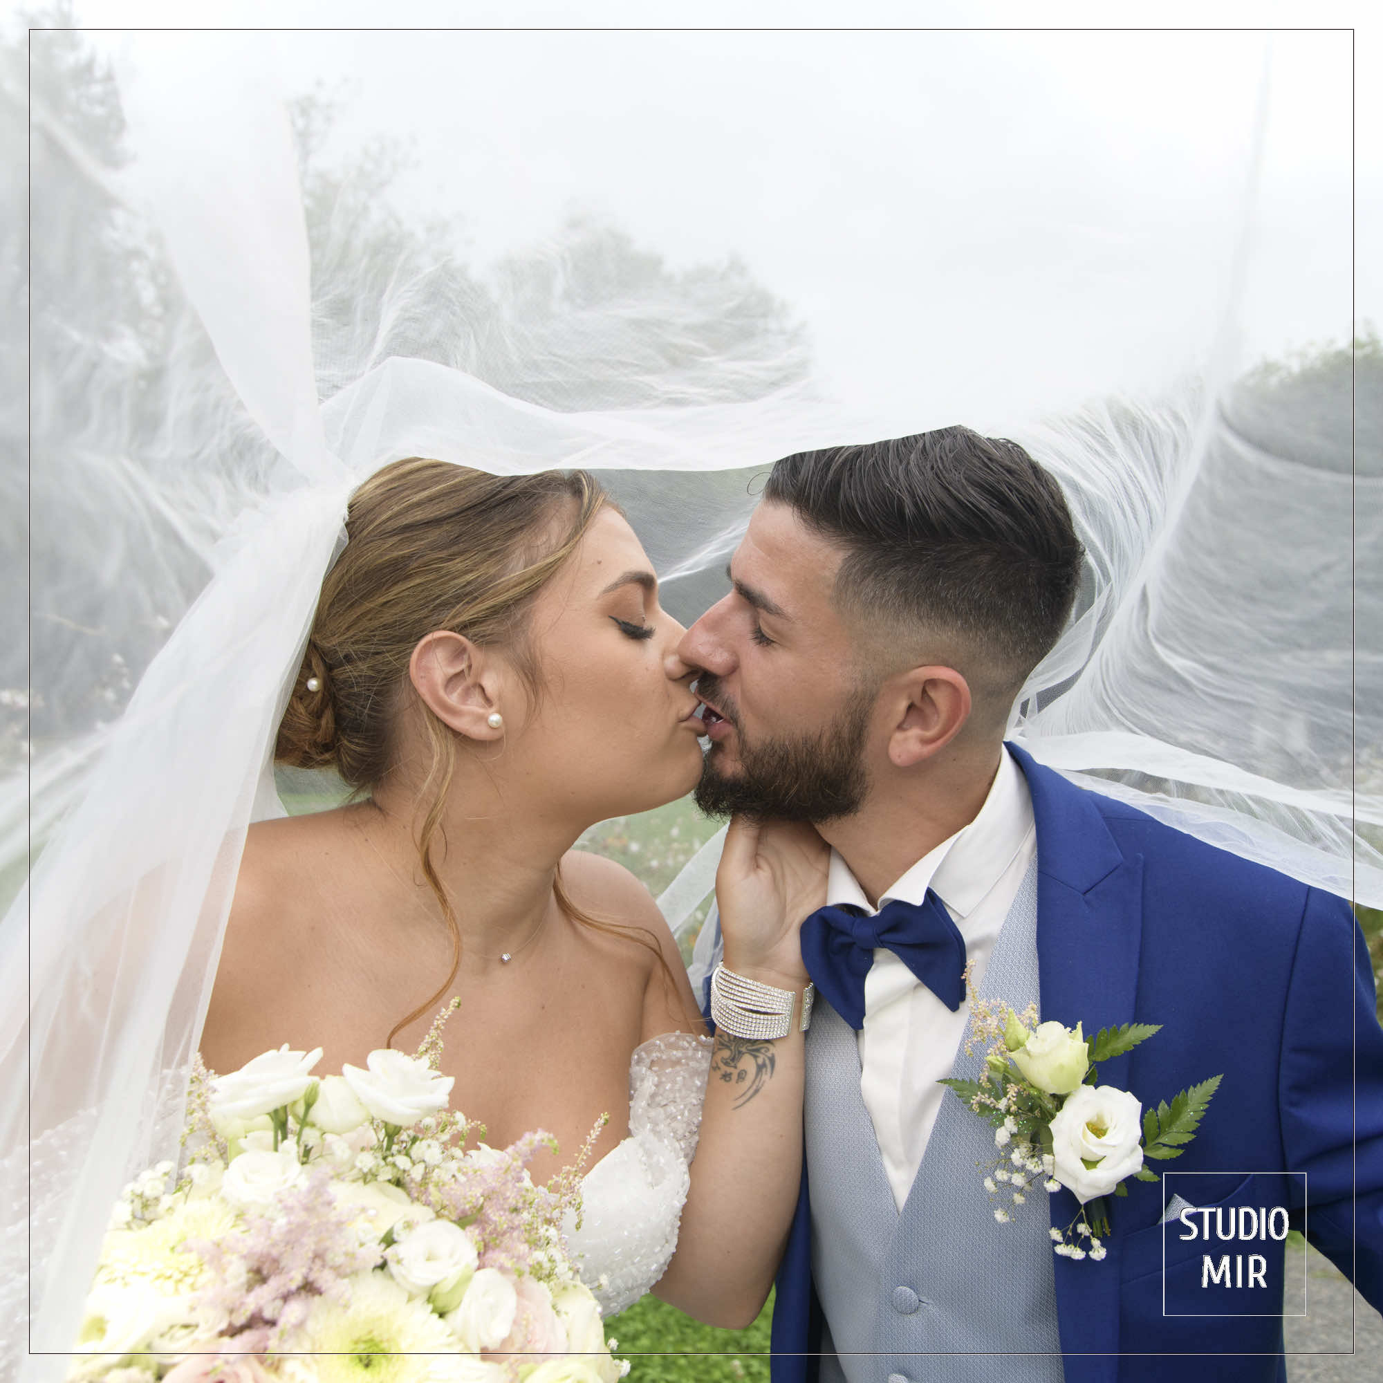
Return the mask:
{"type": "MultiPolygon", "coordinates": [[[[452,1104],[496,1147],[553,1133],[535,1180],[610,1116],[570,1235],[604,1312],[657,1282],[748,1325],[797,1198],[801,1034],[744,1098],[739,1068],[769,1044],[712,1054],[647,891],[571,849],[700,776],[696,669],[649,559],[581,472],[396,462],[355,491],[346,530],[275,757],[331,766],[362,799],[250,827],[203,1058],[228,1072],[286,1043],[364,1065],[386,1041],[412,1050],[456,997],[452,1104]]],[[[824,895],[826,848],[787,826],[736,841],[722,911],[752,928],[732,921],[734,968],[801,990],[788,943],[824,895]]]]}

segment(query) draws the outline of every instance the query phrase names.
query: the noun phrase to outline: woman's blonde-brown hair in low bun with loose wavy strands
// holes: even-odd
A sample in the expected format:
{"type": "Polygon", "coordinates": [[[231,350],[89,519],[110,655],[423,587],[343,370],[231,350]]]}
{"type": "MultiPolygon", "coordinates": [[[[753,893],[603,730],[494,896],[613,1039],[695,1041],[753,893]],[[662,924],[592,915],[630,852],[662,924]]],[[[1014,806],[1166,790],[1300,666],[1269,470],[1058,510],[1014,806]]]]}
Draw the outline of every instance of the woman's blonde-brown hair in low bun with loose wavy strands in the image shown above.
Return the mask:
{"type": "MultiPolygon", "coordinates": [[[[541,679],[527,642],[532,602],[606,502],[584,470],[491,476],[412,456],[371,476],[351,495],[346,548],[322,582],[274,758],[295,768],[335,768],[362,794],[375,788],[393,763],[409,658],[434,629],[505,647],[537,698],[541,679]],[[308,690],[308,679],[315,689],[308,690]]],[[[461,928],[433,857],[438,834],[445,844],[440,827],[459,736],[426,705],[420,711],[431,763],[418,853],[451,934],[452,964],[440,989],[394,1025],[390,1043],[447,993],[461,968],[461,928]]],[[[575,907],[560,874],[553,896],[575,921],[626,934],[575,907]]],[[[649,942],[661,960],[657,942],[649,942]]]]}

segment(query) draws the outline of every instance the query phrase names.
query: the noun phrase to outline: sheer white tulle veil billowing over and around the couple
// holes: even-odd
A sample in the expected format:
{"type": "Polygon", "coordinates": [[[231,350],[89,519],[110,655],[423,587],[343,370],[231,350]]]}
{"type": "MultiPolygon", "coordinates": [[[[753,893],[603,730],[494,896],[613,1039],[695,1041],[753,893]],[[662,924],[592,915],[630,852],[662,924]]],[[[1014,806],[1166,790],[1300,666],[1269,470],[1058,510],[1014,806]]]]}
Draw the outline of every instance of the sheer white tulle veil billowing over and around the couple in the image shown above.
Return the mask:
{"type": "MultiPolygon", "coordinates": [[[[528,80],[553,36],[510,37],[412,43],[420,66],[451,46],[458,82],[469,61],[512,93],[484,141],[541,180],[557,156],[544,131],[581,112],[570,87],[528,80]]],[[[1093,76],[1108,119],[1082,124],[1059,93],[1033,104],[1061,50],[1029,37],[1012,90],[993,76],[1022,57],[1011,35],[896,36],[863,58],[849,36],[834,53],[815,36],[625,36],[649,62],[621,69],[628,89],[615,73],[585,90],[596,127],[638,122],[660,82],[669,102],[700,90],[726,181],[692,169],[689,201],[729,245],[741,217],[757,234],[757,181],[791,194],[762,149],[797,148],[801,120],[819,183],[801,174],[806,249],[784,248],[781,281],[815,264],[839,300],[804,289],[784,306],[762,248],[752,268],[669,267],[599,216],[542,250],[516,239],[481,272],[371,183],[378,149],[347,138],[322,171],[326,108],[286,108],[292,82],[268,75],[292,71],[286,39],[129,35],[112,75],[84,65],[82,36],[35,35],[32,676],[12,622],[0,707],[0,867],[19,888],[0,929],[15,1355],[26,1319],[35,1351],[73,1339],[112,1200],[176,1148],[245,831],[282,810],[270,754],[317,591],[351,488],[390,459],[599,472],[689,621],[721,593],[751,477],[776,456],[953,422],[1004,431],[1061,479],[1088,552],[1012,733],[1079,781],[1383,906],[1383,360],[1342,290],[1348,184],[1329,141],[1347,127],[1303,151],[1301,69],[1265,62],[1261,37],[1210,35],[1182,37],[1192,69],[1198,43],[1225,64],[1195,140],[1159,141],[1149,86],[1120,95],[1108,71],[1093,76]],[[708,44],[726,58],[709,75],[708,44]],[[929,76],[895,101],[910,124],[871,111],[856,59],[881,83],[929,76]],[[815,73],[809,102],[794,62],[815,73]],[[784,93],[801,102],[786,113],[784,93]],[[914,228],[907,254],[891,217],[914,228]],[[888,254],[896,292],[880,293],[864,261],[888,254]],[[813,313],[835,324],[819,354],[813,313]],[[882,361],[874,333],[895,344],[892,383],[871,391],[851,342],[882,361]]],[[[1347,86],[1347,55],[1322,46],[1312,80],[1347,86]]],[[[7,64],[15,124],[26,79],[14,50],[7,64]]],[[[613,136],[600,152],[613,183],[675,187],[636,151],[622,163],[613,136]]],[[[6,254],[19,301],[18,236],[6,254]]],[[[7,331],[6,487],[22,499],[7,331]]],[[[674,927],[714,862],[712,842],[664,895],[674,927]]],[[[64,1366],[35,1354],[28,1369],[64,1366]]]]}

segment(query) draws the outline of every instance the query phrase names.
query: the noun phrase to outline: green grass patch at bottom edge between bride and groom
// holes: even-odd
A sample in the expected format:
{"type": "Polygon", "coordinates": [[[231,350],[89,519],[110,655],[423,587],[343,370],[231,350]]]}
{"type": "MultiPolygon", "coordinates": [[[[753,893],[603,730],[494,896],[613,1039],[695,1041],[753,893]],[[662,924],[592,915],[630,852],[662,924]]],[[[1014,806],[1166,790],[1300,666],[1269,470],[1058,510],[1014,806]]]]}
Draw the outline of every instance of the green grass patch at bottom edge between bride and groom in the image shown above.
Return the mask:
{"type": "Polygon", "coordinates": [[[629,1383],[768,1383],[773,1296],[747,1330],[718,1330],[647,1296],[606,1321],[629,1383]]]}

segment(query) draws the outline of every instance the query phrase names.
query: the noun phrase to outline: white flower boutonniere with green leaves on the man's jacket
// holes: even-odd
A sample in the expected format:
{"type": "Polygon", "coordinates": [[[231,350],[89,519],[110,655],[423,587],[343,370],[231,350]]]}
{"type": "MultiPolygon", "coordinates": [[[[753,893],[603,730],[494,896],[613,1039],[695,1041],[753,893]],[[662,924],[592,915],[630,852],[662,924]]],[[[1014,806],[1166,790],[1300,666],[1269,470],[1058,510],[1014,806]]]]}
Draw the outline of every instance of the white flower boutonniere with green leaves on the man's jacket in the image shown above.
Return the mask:
{"type": "MultiPolygon", "coordinates": [[[[1162,1030],[1160,1023],[1123,1023],[1086,1037],[1057,1022],[1039,1023],[1037,1005],[1022,1014],[1003,1000],[971,993],[967,1054],[987,1048],[979,1080],[943,1080],[994,1127],[1000,1156],[985,1176],[992,1198],[1021,1206],[1036,1187],[1066,1187],[1080,1212],[1065,1229],[1051,1229],[1055,1252],[1068,1259],[1105,1256],[1109,1234],[1105,1196],[1126,1196],[1130,1177],[1156,1181],[1145,1159],[1180,1158],[1195,1137],[1220,1076],[1182,1090],[1169,1105],[1144,1111],[1127,1090],[1101,1086],[1099,1062],[1122,1057],[1162,1030]]],[[[1000,1205],[994,1218],[1012,1214],[1000,1205]]]]}

